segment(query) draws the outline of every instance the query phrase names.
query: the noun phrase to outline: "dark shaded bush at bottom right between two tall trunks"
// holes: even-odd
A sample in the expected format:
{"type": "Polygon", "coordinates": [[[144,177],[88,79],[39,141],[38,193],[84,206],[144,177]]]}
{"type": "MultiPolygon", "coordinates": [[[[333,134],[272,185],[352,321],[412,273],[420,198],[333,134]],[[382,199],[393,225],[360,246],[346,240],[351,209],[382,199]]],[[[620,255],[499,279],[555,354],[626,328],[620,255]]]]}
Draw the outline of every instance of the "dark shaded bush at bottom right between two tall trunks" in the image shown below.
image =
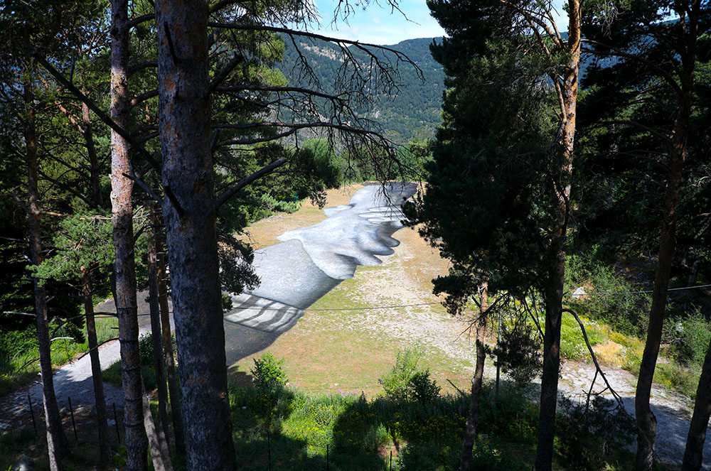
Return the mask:
{"type": "Polygon", "coordinates": [[[632,443],[634,418],[613,401],[595,396],[589,407],[563,398],[556,418],[558,460],[565,469],[603,471],[632,443]]]}

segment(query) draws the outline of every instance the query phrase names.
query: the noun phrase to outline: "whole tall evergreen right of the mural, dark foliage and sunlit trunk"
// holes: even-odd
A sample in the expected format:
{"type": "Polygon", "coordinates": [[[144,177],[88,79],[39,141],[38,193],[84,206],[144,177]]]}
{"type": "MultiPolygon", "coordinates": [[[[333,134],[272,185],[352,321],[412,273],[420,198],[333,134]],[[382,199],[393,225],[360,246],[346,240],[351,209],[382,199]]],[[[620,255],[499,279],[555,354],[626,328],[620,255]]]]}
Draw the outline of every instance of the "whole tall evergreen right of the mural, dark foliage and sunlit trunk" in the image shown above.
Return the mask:
{"type": "Polygon", "coordinates": [[[448,87],[427,190],[410,216],[453,262],[436,288],[456,309],[491,292],[545,304],[536,469],[552,462],[560,366],[581,4],[567,2],[563,38],[537,1],[429,1],[447,31],[434,58],[448,87]],[[439,286],[438,286],[439,285],[439,286]]]}

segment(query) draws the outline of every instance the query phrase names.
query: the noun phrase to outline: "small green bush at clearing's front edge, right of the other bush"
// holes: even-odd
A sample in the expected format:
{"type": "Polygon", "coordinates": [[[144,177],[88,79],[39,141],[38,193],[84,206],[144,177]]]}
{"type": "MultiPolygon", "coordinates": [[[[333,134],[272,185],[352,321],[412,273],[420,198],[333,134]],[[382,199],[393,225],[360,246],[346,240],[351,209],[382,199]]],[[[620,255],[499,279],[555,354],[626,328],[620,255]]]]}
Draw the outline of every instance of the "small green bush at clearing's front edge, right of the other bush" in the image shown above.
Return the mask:
{"type": "Polygon", "coordinates": [[[422,347],[419,346],[397,352],[395,366],[378,379],[388,399],[426,403],[439,397],[442,388],[429,377],[429,369],[419,368],[420,357],[422,347]]]}

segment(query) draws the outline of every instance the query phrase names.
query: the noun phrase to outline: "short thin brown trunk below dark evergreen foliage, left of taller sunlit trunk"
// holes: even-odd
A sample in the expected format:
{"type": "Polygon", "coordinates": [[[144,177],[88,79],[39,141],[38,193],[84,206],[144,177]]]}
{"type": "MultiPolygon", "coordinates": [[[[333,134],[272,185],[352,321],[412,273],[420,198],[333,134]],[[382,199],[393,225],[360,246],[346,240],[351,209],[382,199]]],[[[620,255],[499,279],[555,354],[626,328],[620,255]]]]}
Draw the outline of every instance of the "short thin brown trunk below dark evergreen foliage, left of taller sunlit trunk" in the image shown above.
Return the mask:
{"type": "Polygon", "coordinates": [[[469,403],[469,418],[466,419],[464,445],[461,448],[459,471],[471,469],[471,452],[474,450],[476,440],[476,424],[479,422],[479,405],[481,404],[481,383],[484,377],[484,362],[486,362],[486,349],[484,337],[486,335],[486,308],[487,308],[487,283],[481,286],[481,309],[476,323],[476,369],[474,378],[471,379],[471,402],[469,403]]]}

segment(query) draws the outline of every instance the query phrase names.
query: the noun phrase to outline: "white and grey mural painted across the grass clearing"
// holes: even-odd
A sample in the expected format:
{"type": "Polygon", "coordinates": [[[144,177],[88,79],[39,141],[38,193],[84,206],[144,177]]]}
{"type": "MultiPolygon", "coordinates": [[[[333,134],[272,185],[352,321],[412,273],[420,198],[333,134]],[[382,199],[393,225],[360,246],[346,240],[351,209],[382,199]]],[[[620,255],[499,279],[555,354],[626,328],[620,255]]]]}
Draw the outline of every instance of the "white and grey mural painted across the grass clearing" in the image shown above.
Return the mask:
{"type": "Polygon", "coordinates": [[[327,207],[326,219],[279,235],[281,244],[255,251],[261,283],[232,296],[225,320],[267,332],[289,330],[304,309],[352,278],[358,265],[381,263],[400,244],[402,203],[415,194],[415,183],[368,185],[348,205],[327,207]]]}

